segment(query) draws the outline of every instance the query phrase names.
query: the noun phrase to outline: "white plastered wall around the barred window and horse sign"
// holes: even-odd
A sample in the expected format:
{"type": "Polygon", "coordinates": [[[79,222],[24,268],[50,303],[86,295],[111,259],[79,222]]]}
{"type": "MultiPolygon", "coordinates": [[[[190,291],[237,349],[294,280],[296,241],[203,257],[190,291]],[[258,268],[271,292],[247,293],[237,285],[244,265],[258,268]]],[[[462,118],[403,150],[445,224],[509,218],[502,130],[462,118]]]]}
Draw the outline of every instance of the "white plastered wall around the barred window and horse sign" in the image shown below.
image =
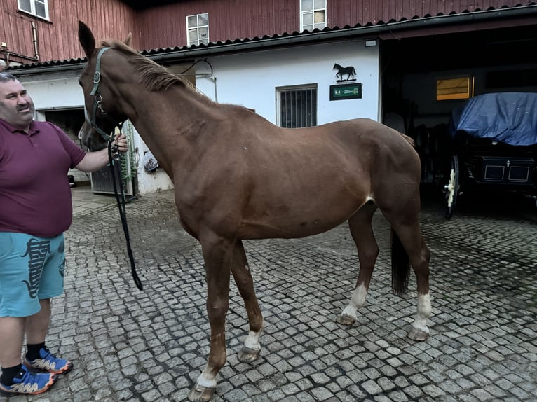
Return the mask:
{"type": "MultiPolygon", "coordinates": [[[[316,84],[317,124],[367,117],[379,119],[379,46],[341,41],[315,46],[208,57],[198,63],[196,87],[220,103],[240,104],[276,123],[276,88],[316,84]],[[337,83],[334,64],[352,66],[356,81],[337,83]],[[362,83],[362,99],[330,101],[330,85],[362,83]]],[[[346,77],[344,77],[346,78],[346,77]]]]}

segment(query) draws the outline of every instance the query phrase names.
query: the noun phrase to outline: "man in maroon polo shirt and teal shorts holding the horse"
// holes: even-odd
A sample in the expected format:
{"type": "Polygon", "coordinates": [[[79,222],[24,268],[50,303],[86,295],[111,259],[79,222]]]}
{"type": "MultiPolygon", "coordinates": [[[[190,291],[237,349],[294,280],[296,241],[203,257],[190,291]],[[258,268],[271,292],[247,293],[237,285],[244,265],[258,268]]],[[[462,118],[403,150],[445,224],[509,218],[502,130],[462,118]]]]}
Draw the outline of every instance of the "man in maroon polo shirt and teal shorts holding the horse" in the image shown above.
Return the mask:
{"type": "MultiPolygon", "coordinates": [[[[108,163],[107,148],[86,153],[59,127],[34,121],[34,113],[22,83],[0,72],[0,391],[5,394],[41,394],[73,367],[45,345],[50,298],[63,293],[63,233],[72,222],[67,172],[95,172],[108,163]]],[[[124,135],[115,143],[127,151],[124,135]]]]}

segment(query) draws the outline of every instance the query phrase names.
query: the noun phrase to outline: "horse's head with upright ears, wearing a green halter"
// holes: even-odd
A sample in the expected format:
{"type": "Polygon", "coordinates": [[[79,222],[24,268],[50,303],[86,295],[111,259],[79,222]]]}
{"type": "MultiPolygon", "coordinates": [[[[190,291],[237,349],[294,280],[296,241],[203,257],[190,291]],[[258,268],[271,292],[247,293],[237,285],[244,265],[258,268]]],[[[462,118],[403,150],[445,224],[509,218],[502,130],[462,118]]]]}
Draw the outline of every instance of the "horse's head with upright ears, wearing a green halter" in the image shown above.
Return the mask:
{"type": "MultiPolygon", "coordinates": [[[[131,35],[125,40],[130,45],[131,35]]],[[[93,33],[86,24],[79,21],[79,41],[88,57],[82,70],[79,84],[84,92],[84,113],[86,122],[79,131],[79,138],[90,151],[98,151],[107,146],[118,123],[126,116],[118,110],[118,97],[114,90],[114,76],[102,69],[102,55],[109,48],[96,48],[93,33]]],[[[107,66],[114,65],[107,62],[107,66]]],[[[110,67],[108,67],[110,69],[110,67]]]]}

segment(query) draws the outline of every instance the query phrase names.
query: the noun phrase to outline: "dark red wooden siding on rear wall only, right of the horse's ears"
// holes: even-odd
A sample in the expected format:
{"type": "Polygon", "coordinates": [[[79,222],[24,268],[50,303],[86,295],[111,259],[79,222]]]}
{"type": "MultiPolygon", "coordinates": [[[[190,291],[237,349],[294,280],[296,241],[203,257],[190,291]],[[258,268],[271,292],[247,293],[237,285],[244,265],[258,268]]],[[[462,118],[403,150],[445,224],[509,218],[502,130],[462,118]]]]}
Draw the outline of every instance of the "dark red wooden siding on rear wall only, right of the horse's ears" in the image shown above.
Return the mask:
{"type": "MultiPolygon", "coordinates": [[[[351,27],[426,15],[517,6],[520,0],[327,0],[327,25],[351,27]]],[[[211,42],[298,32],[300,0],[184,0],[139,15],[143,50],[186,46],[186,15],[209,14],[211,42]]]]}

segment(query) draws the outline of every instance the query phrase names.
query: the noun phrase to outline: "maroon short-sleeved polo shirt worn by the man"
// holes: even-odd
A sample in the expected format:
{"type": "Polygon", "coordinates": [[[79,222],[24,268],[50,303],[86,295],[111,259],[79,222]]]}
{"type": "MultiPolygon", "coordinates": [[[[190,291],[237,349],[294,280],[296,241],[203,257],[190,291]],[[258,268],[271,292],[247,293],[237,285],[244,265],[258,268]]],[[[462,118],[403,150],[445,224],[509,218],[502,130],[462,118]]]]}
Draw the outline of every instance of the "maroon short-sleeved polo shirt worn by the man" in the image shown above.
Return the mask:
{"type": "Polygon", "coordinates": [[[0,232],[53,237],[72,222],[67,172],[86,153],[59,127],[34,121],[29,133],[0,119],[0,232]]]}

